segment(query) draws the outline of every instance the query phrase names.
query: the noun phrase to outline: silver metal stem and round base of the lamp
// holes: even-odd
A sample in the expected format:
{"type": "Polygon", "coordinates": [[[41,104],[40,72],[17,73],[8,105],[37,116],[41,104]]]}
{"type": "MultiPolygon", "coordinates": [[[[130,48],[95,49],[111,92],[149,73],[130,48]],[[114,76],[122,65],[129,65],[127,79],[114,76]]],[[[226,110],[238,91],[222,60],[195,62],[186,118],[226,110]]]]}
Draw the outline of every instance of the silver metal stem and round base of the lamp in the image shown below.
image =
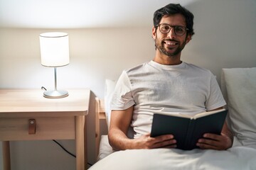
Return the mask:
{"type": "Polygon", "coordinates": [[[46,98],[64,98],[68,96],[68,91],[57,90],[57,68],[54,67],[54,81],[55,81],[55,90],[54,91],[45,91],[43,96],[46,98]]]}

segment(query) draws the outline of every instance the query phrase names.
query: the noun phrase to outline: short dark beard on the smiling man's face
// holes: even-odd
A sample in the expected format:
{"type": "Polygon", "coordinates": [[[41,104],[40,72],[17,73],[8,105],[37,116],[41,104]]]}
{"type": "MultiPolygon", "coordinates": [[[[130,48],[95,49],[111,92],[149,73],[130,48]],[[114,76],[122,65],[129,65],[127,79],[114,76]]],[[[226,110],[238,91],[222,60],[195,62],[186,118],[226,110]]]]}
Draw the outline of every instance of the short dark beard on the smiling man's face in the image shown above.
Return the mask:
{"type": "MultiPolygon", "coordinates": [[[[155,40],[155,46],[156,48],[159,50],[159,52],[161,52],[163,55],[166,55],[168,57],[175,57],[176,55],[178,55],[182,50],[183,48],[185,47],[186,45],[186,42],[184,41],[182,44],[180,44],[180,42],[178,42],[177,40],[171,40],[171,41],[174,41],[174,42],[177,42],[178,43],[178,47],[176,47],[176,50],[174,50],[173,52],[168,52],[166,50],[166,48],[164,47],[164,44],[165,44],[165,40],[171,40],[171,39],[164,39],[164,40],[159,40],[157,37],[156,37],[156,40],[155,40]]],[[[171,49],[169,49],[171,50],[171,49]]]]}

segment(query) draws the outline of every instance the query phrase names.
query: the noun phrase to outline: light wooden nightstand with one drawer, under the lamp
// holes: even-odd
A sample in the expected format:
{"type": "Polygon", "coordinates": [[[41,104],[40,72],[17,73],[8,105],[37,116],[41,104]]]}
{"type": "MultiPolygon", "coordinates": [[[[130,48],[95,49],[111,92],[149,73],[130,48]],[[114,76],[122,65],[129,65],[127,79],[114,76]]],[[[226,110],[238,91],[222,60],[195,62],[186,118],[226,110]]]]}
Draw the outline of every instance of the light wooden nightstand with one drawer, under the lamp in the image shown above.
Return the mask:
{"type": "Polygon", "coordinates": [[[11,140],[75,140],[76,169],[87,169],[85,115],[90,90],[70,89],[68,93],[68,97],[50,99],[40,89],[0,89],[4,170],[11,169],[11,140]]]}

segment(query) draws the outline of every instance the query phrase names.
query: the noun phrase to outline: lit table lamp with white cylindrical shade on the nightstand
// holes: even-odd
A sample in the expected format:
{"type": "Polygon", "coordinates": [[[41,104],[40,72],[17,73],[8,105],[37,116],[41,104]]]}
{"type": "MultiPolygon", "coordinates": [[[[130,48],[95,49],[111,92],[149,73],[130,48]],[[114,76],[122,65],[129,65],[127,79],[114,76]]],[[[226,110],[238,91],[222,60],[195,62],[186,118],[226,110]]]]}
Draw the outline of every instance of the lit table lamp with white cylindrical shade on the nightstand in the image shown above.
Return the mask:
{"type": "Polygon", "coordinates": [[[57,67],[69,64],[68,33],[42,33],[39,35],[41,64],[54,67],[55,90],[45,91],[46,98],[63,98],[68,96],[68,91],[57,89],[57,67]]]}

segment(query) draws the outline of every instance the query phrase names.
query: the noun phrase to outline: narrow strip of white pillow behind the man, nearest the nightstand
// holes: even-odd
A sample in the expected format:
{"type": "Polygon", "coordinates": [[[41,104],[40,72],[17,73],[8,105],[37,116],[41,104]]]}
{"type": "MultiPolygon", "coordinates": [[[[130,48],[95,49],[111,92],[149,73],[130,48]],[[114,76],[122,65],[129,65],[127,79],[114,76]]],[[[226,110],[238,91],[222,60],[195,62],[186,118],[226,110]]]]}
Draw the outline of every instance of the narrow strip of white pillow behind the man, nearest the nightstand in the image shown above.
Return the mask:
{"type": "Polygon", "coordinates": [[[112,96],[114,93],[114,87],[116,86],[116,84],[117,84],[117,81],[113,81],[111,79],[105,80],[104,102],[105,102],[105,114],[106,114],[108,129],[110,129],[110,115],[111,115],[110,103],[112,100],[112,96]]]}

